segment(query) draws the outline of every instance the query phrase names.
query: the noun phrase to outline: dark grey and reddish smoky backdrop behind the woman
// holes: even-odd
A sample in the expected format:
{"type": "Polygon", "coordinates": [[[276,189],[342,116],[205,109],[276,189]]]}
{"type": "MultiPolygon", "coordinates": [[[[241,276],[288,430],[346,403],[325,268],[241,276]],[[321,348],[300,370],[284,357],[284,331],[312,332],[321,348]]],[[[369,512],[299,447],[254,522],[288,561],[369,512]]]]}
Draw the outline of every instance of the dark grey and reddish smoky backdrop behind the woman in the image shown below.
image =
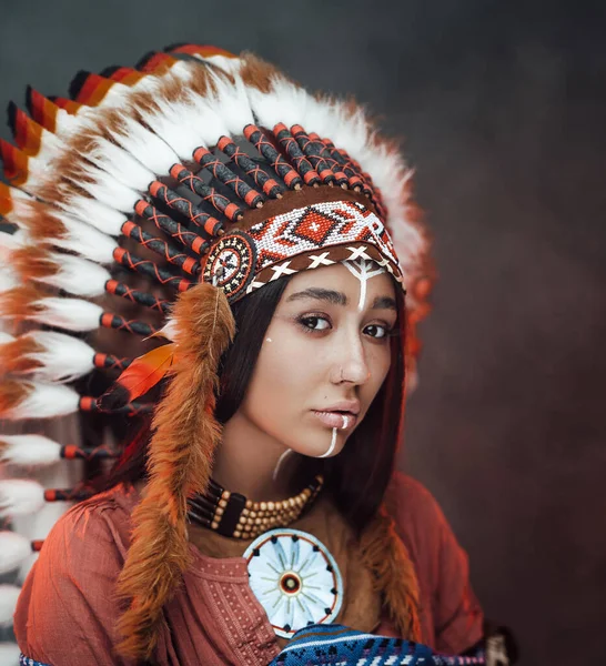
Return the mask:
{"type": "Polygon", "coordinates": [[[405,139],[441,280],[402,464],[442,503],[525,666],[606,662],[604,11],[0,0],[0,107],[193,41],[354,93],[405,139]]]}

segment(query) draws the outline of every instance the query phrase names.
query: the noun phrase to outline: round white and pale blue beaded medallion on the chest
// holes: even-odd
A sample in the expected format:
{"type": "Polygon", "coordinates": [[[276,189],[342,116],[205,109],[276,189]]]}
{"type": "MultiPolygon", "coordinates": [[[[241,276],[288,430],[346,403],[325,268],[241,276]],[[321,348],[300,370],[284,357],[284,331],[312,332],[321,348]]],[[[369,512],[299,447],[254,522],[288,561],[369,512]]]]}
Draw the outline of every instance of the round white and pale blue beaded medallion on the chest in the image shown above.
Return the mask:
{"type": "Polygon", "coordinates": [[[315,536],[299,529],[271,529],[255,538],[243,557],[250,586],[282,638],[336,617],[343,579],[333,556],[315,536]]]}

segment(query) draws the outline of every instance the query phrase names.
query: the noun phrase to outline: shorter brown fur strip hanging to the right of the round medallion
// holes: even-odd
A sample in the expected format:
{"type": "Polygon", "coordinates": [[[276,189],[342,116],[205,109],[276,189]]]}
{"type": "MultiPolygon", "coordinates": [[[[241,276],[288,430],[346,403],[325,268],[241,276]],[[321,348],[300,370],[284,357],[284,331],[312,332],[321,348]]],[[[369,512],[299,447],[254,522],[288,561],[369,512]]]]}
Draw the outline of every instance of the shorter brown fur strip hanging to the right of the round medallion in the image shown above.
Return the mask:
{"type": "Polygon", "coordinates": [[[400,636],[420,642],[418,582],[408,551],[384,506],[362,534],[361,552],[400,636]]]}

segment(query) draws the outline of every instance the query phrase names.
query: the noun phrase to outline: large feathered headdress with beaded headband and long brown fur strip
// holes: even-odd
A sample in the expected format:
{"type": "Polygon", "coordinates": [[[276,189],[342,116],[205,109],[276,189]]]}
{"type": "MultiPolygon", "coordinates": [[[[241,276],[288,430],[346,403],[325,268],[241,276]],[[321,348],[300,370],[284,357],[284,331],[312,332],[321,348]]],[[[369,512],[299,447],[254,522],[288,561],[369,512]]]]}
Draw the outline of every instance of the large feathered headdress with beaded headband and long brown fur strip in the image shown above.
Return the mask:
{"type": "MultiPolygon", "coordinates": [[[[412,320],[428,291],[411,172],[361,108],[311,95],[251,54],[168,51],[81,72],[70,100],[29,90],[29,115],[9,110],[16,145],[0,143],[0,214],[18,229],[1,234],[11,272],[0,316],[41,325],[0,341],[0,417],[151,412],[139,398],[170,377],[120,582],[123,652],[148,657],[188,566],[186,498],[208,483],[219,437],[229,304],[344,260],[384,266],[407,289],[412,320]],[[104,329],[130,334],[132,353],[97,350],[104,329]],[[94,370],[124,371],[101,400],[72,385],[94,370]]],[[[33,444],[4,440],[0,454],[33,444]]]]}

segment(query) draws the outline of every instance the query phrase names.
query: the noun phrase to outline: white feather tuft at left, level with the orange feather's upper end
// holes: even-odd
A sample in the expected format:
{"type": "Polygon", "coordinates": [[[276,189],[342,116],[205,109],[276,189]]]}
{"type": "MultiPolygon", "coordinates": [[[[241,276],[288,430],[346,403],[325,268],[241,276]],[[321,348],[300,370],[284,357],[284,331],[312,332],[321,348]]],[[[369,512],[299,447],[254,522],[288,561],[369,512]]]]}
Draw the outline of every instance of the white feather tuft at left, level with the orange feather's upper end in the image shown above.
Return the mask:
{"type": "Polygon", "coordinates": [[[94,350],[78,337],[54,331],[32,331],[24,337],[30,337],[44,347],[42,352],[27,355],[41,365],[31,371],[34,380],[72,382],[94,369],[94,350]]]}

